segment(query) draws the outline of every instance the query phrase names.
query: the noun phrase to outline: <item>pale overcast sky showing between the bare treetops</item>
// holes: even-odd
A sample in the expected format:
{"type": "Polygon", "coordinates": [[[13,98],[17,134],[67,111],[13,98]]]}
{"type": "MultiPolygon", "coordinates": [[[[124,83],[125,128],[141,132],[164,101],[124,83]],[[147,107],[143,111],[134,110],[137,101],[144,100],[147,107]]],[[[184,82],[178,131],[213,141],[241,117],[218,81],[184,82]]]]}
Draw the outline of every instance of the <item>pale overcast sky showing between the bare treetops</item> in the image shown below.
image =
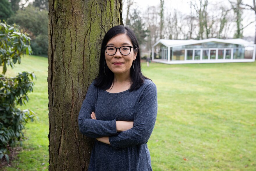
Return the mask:
{"type": "MultiPolygon", "coordinates": [[[[126,18],[126,9],[127,5],[123,4],[123,19],[126,18]]],[[[234,0],[233,0],[234,1],[234,0]]],[[[134,7],[138,7],[142,12],[147,9],[149,6],[160,6],[160,0],[134,0],[134,7]]],[[[188,14],[190,12],[189,7],[190,0],[164,0],[164,10],[178,10],[184,14],[188,14]]],[[[253,0],[243,0],[244,3],[252,4],[253,0]]],[[[223,3],[225,6],[230,6],[228,0],[210,0],[209,3],[219,4],[223,3]]],[[[246,26],[251,21],[255,21],[255,13],[252,10],[244,10],[243,13],[243,26],[246,26]]],[[[250,24],[243,30],[243,36],[255,36],[255,22],[250,24]]]]}

